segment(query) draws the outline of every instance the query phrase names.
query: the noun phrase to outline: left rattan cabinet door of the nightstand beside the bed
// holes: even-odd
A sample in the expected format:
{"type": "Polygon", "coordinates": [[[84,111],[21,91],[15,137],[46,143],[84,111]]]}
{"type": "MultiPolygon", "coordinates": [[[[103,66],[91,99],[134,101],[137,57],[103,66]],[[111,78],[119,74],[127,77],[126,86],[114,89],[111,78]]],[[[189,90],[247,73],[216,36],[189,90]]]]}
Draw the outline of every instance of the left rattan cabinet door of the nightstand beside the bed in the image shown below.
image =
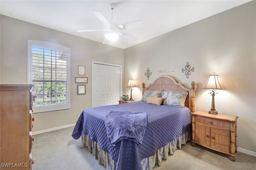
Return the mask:
{"type": "Polygon", "coordinates": [[[196,141],[210,146],[210,127],[196,124],[196,141]]]}

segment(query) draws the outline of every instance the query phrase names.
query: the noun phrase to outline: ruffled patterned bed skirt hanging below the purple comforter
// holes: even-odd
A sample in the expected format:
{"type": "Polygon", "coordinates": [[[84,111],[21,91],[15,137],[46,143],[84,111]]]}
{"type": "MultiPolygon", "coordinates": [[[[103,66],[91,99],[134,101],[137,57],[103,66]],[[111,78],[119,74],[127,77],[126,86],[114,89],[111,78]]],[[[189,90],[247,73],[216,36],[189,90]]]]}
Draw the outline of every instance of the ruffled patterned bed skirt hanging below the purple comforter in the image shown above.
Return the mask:
{"type": "MultiPolygon", "coordinates": [[[[84,147],[88,147],[88,150],[92,155],[94,155],[95,159],[98,159],[99,164],[104,165],[106,170],[115,170],[116,169],[116,162],[111,159],[110,155],[102,150],[98,143],[91,140],[88,135],[82,134],[82,142],[84,147]]],[[[152,170],[157,164],[161,166],[162,159],[168,158],[168,153],[174,154],[177,148],[181,149],[182,144],[186,144],[188,140],[191,140],[191,133],[185,132],[175,140],[168,142],[168,144],[156,151],[156,154],[150,156],[148,158],[142,159],[140,162],[142,164],[143,170],[152,170]]]]}

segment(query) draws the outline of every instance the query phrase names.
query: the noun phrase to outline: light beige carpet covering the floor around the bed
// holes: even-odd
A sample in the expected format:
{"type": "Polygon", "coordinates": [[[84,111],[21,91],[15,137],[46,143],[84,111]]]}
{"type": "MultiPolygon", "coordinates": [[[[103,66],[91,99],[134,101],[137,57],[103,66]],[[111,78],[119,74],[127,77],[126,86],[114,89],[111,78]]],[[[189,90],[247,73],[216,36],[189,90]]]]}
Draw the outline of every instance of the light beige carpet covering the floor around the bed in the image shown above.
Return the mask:
{"type": "MultiPolygon", "coordinates": [[[[34,135],[32,170],[104,170],[98,160],[83,147],[81,139],[72,138],[73,127],[34,135]]],[[[256,157],[236,153],[236,162],[229,156],[188,142],[169,155],[154,170],[256,170],[256,157]]]]}

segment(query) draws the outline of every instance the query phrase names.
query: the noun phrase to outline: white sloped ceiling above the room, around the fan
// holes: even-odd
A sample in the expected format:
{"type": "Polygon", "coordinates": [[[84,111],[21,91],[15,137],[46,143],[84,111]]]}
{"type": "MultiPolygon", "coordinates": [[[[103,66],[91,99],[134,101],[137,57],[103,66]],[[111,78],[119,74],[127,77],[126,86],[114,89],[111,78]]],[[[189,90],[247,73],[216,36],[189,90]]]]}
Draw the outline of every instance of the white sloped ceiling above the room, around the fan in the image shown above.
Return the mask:
{"type": "Polygon", "coordinates": [[[111,22],[108,5],[114,3],[114,23],[120,25],[137,20],[143,22],[142,27],[122,30],[136,37],[136,41],[120,39],[119,42],[109,44],[125,49],[249,1],[0,0],[0,14],[102,43],[104,32],[76,30],[104,29],[104,24],[91,11],[100,11],[111,22]]]}

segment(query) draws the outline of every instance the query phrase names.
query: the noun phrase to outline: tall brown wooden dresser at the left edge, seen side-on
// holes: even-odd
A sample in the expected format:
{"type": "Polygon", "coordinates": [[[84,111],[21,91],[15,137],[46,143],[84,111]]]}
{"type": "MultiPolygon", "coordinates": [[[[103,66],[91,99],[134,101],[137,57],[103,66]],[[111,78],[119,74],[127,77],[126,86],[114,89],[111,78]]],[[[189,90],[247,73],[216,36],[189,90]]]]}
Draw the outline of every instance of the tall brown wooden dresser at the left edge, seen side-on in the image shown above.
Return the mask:
{"type": "Polygon", "coordinates": [[[0,169],[31,170],[32,92],[30,84],[0,84],[0,169]]]}

